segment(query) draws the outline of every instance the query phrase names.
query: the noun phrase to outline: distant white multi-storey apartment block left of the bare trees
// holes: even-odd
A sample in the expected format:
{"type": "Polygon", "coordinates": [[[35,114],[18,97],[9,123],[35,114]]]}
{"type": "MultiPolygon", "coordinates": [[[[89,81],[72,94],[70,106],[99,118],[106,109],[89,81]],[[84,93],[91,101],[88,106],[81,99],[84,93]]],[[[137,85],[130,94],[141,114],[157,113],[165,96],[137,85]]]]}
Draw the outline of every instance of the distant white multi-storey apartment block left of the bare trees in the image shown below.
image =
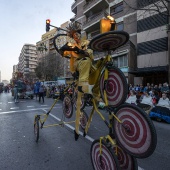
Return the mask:
{"type": "Polygon", "coordinates": [[[18,69],[23,73],[24,79],[34,79],[36,77],[35,68],[37,67],[37,61],[36,46],[33,44],[24,44],[18,63],[18,69]]]}

